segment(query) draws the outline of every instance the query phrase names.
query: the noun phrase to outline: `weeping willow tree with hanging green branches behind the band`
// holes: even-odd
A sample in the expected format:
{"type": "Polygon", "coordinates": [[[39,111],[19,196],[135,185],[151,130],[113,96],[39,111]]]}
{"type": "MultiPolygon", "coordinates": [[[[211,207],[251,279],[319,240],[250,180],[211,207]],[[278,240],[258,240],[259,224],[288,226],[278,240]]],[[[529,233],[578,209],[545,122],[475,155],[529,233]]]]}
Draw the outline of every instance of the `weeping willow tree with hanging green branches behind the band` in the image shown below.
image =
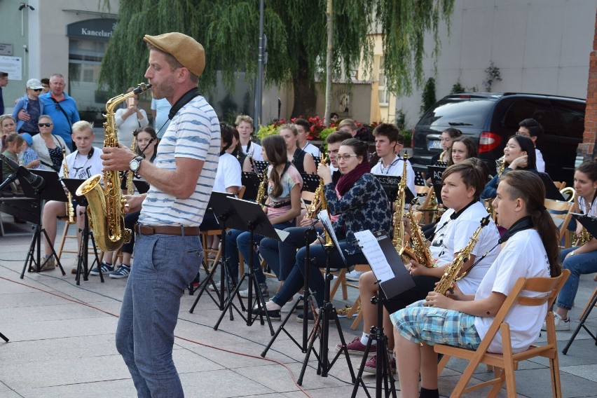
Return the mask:
{"type": "MultiPolygon", "coordinates": [[[[108,4],[108,0],[104,1],[108,4]]],[[[315,76],[325,76],[327,55],[326,0],[265,0],[267,85],[291,84],[293,116],[315,114],[315,76]]],[[[425,35],[439,53],[439,22],[449,24],[454,0],[334,1],[334,78],[350,81],[362,62],[371,69],[373,36],[383,35],[387,87],[409,94],[423,82],[425,35]]],[[[121,0],[118,27],[102,60],[99,83],[122,92],[142,81],[147,65],[144,34],[181,32],[205,47],[206,65],[200,89],[213,90],[217,72],[227,90],[238,73],[253,81],[259,46],[259,0],[121,0]]],[[[322,80],[324,80],[322,78],[322,80]]]]}

